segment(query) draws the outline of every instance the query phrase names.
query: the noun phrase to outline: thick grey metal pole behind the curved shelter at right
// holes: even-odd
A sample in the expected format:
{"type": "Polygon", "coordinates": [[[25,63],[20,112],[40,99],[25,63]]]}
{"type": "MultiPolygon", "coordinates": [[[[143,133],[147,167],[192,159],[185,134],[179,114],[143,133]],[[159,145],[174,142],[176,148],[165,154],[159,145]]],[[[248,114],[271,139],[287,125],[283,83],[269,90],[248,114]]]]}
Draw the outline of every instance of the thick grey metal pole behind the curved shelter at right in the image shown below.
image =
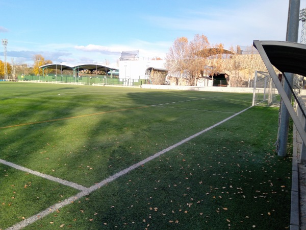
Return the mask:
{"type": "MultiPolygon", "coordinates": [[[[299,8],[300,0],[289,0],[289,10],[288,10],[288,21],[287,21],[287,36],[286,41],[297,42],[298,38],[298,21],[299,21],[299,8]]],[[[285,73],[288,83],[284,82],[284,90],[291,101],[292,93],[290,87],[293,86],[293,74],[285,73]]],[[[286,156],[287,153],[287,143],[288,143],[288,132],[289,132],[289,119],[290,114],[287,110],[284,101],[281,101],[281,116],[278,126],[278,137],[277,137],[277,155],[286,156]]]]}

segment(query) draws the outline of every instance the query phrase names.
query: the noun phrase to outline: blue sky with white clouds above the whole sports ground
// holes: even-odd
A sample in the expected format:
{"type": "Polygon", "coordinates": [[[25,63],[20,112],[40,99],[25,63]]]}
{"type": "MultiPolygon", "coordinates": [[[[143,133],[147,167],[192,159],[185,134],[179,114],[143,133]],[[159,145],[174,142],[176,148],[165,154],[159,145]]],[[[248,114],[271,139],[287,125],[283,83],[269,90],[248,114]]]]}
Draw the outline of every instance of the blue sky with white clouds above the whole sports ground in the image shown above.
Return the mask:
{"type": "Polygon", "coordinates": [[[0,0],[0,38],[8,39],[8,62],[33,64],[41,54],[53,63],[108,60],[115,67],[122,51],[164,59],[182,36],[204,34],[225,49],[285,40],[288,6],[289,0],[0,0]]]}

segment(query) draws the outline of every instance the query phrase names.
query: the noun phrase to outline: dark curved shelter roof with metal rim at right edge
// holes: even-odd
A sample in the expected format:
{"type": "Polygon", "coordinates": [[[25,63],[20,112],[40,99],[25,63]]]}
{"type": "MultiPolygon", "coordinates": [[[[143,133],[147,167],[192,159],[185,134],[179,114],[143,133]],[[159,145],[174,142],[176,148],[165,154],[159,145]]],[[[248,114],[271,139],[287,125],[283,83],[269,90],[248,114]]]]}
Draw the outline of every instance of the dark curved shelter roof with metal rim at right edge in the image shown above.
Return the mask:
{"type": "Polygon", "coordinates": [[[306,77],[306,44],[288,41],[260,42],[272,65],[282,73],[299,74],[306,77]]]}

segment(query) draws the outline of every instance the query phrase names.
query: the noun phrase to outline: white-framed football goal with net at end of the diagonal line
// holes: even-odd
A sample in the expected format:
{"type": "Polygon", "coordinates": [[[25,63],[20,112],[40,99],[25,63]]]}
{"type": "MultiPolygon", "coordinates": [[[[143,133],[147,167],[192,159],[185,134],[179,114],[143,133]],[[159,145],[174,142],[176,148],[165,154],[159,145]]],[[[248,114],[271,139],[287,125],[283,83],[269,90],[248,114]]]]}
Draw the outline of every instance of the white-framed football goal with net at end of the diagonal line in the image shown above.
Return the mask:
{"type": "Polygon", "coordinates": [[[252,105],[279,106],[278,90],[268,72],[256,71],[252,105]]]}

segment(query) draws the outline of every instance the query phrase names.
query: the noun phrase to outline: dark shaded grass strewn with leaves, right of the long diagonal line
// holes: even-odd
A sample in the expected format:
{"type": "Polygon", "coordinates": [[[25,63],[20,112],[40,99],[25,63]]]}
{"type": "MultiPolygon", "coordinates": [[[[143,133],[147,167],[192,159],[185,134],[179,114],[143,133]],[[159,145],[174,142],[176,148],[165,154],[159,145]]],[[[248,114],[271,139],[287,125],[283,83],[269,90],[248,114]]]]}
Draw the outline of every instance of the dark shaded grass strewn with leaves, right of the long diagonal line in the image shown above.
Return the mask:
{"type": "Polygon", "coordinates": [[[288,228],[291,159],[273,153],[275,124],[277,110],[252,108],[29,229],[288,228]]]}

